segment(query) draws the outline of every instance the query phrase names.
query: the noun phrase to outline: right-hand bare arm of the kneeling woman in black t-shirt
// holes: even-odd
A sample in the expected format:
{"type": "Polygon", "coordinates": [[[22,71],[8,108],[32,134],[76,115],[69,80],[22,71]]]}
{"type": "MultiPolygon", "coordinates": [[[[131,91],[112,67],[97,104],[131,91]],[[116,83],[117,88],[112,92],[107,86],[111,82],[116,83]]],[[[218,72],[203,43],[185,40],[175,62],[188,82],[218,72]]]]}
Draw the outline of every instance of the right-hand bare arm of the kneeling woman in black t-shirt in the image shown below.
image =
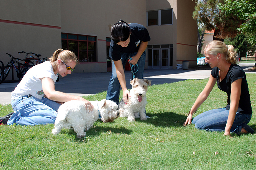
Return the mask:
{"type": "Polygon", "coordinates": [[[231,94],[230,94],[230,109],[228,114],[228,121],[225,127],[224,135],[230,135],[230,129],[234,123],[236,112],[238,109],[238,104],[241,95],[241,87],[242,87],[242,78],[234,81],[231,84],[231,94]]]}

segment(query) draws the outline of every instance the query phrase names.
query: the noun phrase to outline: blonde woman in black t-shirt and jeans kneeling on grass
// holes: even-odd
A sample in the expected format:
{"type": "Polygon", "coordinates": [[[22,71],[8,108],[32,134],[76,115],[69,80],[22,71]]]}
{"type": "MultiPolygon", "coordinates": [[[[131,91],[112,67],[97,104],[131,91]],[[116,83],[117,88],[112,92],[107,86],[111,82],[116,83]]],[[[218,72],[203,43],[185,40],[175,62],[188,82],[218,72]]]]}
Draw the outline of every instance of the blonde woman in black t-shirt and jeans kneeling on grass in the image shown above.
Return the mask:
{"type": "Polygon", "coordinates": [[[183,125],[191,123],[193,113],[207,99],[217,82],[218,88],[228,95],[226,107],[197,115],[192,123],[197,129],[224,131],[225,136],[230,136],[231,132],[254,133],[247,125],[252,117],[252,107],[246,75],[236,64],[234,47],[227,46],[222,41],[211,41],[204,48],[204,55],[205,62],[213,69],[208,83],[197,97],[183,125]]]}

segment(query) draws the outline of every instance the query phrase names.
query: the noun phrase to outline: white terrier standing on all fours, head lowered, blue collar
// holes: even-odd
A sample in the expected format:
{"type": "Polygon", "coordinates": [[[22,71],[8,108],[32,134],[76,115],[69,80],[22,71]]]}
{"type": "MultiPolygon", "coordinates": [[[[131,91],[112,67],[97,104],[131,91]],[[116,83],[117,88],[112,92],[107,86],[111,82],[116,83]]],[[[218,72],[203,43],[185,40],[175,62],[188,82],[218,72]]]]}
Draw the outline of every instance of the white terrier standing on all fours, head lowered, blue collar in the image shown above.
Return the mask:
{"type": "Polygon", "coordinates": [[[97,120],[113,122],[119,115],[118,105],[111,100],[90,102],[93,105],[92,111],[79,100],[71,100],[60,105],[52,134],[57,135],[63,128],[72,128],[77,137],[85,137],[85,131],[88,131],[97,120]]]}

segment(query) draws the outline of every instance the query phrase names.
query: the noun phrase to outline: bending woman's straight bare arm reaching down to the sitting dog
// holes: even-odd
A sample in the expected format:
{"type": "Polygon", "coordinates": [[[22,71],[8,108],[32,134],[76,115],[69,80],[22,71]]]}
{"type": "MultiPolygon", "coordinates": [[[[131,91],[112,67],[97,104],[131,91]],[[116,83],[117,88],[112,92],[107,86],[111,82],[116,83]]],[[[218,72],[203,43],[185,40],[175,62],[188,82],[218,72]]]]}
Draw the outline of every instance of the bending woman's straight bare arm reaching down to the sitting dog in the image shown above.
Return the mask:
{"type": "Polygon", "coordinates": [[[123,99],[124,99],[124,102],[127,103],[127,100],[128,100],[127,96],[130,95],[130,92],[129,92],[129,90],[127,90],[127,87],[126,87],[124,68],[123,68],[121,59],[118,61],[114,61],[114,64],[116,67],[116,75],[117,75],[118,81],[123,90],[123,99]]]}

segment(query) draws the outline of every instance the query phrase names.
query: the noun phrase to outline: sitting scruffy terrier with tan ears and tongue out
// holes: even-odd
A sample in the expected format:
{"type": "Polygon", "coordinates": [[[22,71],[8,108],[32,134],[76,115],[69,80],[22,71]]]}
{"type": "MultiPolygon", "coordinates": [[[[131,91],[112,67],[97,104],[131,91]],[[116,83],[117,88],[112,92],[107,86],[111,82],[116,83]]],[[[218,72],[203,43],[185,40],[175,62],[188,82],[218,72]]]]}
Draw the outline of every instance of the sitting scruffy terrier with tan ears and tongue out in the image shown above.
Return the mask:
{"type": "Polygon", "coordinates": [[[145,78],[134,78],[131,80],[131,85],[131,97],[128,97],[127,104],[124,103],[123,99],[119,103],[119,116],[127,117],[130,122],[135,121],[135,118],[139,117],[140,120],[146,120],[146,92],[148,91],[148,86],[151,86],[151,81],[145,78]]]}

